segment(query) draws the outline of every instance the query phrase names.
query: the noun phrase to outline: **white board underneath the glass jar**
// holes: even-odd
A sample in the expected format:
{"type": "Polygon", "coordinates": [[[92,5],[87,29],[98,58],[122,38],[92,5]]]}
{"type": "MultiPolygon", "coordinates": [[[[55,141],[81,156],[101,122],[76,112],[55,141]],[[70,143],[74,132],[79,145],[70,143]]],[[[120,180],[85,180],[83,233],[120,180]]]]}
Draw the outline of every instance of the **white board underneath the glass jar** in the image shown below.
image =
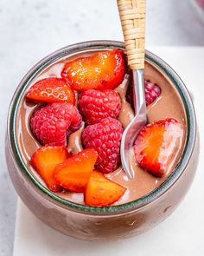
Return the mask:
{"type": "Polygon", "coordinates": [[[203,256],[204,227],[204,48],[151,49],[181,75],[194,95],[201,134],[201,161],[193,186],[180,207],[148,233],[128,240],[86,242],[45,226],[19,200],[13,256],[203,256]]]}

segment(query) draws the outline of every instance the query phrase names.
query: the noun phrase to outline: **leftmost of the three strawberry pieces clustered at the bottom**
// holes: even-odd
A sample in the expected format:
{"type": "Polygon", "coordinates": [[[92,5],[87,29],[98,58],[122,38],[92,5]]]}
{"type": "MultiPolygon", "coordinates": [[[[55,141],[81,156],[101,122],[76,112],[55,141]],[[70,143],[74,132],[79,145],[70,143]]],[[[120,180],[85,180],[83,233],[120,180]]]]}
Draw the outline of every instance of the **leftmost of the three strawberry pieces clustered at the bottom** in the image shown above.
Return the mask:
{"type": "Polygon", "coordinates": [[[59,146],[45,146],[39,148],[31,157],[30,163],[36,172],[45,181],[48,188],[53,192],[61,192],[62,187],[54,181],[54,168],[65,161],[69,153],[67,149],[59,146]]]}

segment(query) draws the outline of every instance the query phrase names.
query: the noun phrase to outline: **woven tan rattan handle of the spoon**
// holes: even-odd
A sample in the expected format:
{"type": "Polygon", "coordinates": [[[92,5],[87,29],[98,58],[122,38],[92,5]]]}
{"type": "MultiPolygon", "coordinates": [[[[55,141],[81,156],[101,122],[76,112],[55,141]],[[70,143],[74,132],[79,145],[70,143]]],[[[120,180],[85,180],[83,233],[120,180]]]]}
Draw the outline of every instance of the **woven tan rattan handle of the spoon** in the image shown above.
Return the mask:
{"type": "Polygon", "coordinates": [[[128,64],[131,69],[143,69],[146,0],[117,0],[117,2],[128,64]]]}

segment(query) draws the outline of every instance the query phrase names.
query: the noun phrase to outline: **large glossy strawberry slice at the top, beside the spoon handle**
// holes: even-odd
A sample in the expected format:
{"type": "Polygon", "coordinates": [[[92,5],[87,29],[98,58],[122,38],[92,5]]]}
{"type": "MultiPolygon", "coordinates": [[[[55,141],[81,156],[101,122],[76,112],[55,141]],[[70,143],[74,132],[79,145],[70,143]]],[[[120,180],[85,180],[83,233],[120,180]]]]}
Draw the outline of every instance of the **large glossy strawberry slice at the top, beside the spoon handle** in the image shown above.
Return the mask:
{"type": "Polygon", "coordinates": [[[67,62],[61,77],[78,91],[115,89],[125,73],[124,51],[112,49],[67,62]]]}

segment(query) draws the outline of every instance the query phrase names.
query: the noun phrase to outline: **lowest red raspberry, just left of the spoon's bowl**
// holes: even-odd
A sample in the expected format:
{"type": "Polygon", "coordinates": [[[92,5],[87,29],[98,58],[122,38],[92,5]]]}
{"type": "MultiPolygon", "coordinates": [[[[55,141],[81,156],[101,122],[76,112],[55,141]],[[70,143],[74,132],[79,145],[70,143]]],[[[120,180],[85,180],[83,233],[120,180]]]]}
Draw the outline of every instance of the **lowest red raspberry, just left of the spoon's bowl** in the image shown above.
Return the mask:
{"type": "Polygon", "coordinates": [[[108,174],[120,165],[120,141],[123,134],[121,123],[117,119],[107,117],[99,123],[89,125],[82,133],[85,148],[94,148],[98,154],[96,167],[108,174]]]}

